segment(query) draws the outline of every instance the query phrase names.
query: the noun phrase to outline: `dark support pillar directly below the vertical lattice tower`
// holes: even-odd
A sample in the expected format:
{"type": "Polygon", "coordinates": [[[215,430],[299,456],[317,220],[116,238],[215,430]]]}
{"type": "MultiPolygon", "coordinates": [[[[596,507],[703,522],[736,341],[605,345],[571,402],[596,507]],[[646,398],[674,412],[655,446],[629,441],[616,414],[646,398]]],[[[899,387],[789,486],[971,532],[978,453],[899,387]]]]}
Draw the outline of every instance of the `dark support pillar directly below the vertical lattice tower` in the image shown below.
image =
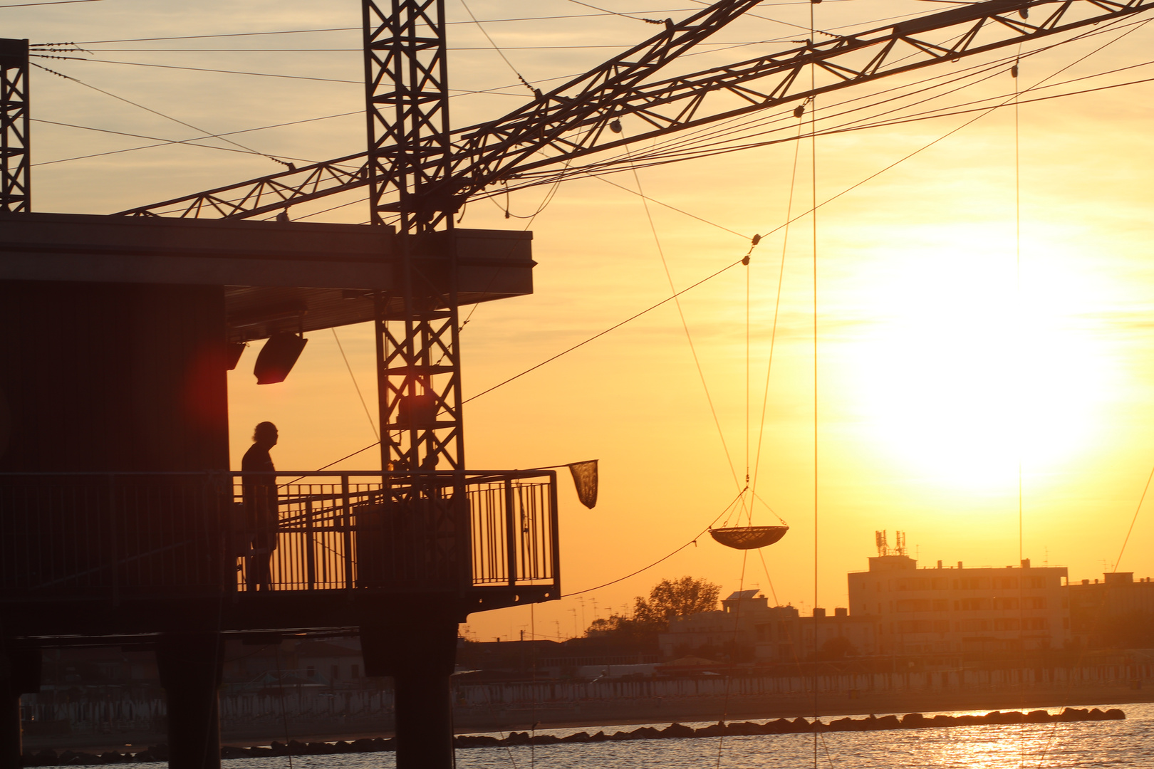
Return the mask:
{"type": "Polygon", "coordinates": [[[457,621],[434,612],[361,627],[368,676],[391,676],[397,713],[397,769],[452,769],[450,676],[457,621]]]}

